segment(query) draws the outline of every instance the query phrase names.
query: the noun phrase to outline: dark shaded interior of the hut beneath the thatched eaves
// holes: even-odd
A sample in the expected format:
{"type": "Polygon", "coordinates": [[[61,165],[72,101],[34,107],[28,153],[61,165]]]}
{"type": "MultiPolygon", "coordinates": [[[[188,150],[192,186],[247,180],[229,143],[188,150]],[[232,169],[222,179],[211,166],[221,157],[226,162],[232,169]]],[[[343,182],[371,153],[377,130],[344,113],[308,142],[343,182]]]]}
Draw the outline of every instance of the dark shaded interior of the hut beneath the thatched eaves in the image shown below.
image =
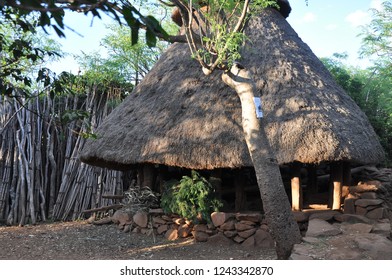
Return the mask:
{"type": "MultiPolygon", "coordinates": [[[[293,210],[332,209],[331,166],[333,164],[330,163],[318,165],[294,163],[281,166],[282,180],[293,210]],[[300,185],[299,198],[293,198],[296,195],[293,178],[297,178],[300,185]]],[[[199,170],[198,172],[212,184],[215,196],[223,202],[221,211],[262,211],[262,201],[253,168],[199,170]]],[[[140,166],[133,174],[137,185],[148,186],[153,191],[162,193],[165,182],[190,176],[191,170],[149,164],[140,166]]]]}

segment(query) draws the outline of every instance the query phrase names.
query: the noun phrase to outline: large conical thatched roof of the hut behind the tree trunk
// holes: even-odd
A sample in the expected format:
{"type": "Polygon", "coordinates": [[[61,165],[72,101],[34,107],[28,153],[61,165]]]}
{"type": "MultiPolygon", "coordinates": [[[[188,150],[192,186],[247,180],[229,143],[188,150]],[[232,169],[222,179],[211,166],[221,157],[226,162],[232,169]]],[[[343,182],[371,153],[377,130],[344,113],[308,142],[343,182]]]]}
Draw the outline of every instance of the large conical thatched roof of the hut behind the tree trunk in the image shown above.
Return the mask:
{"type": "MultiPolygon", "coordinates": [[[[364,113],[277,11],[263,11],[246,34],[242,64],[255,74],[266,133],[280,164],[383,159],[364,113]]],[[[168,48],[97,134],[81,153],[93,165],[252,166],[236,93],[219,71],[204,76],[185,44],[168,48]]]]}

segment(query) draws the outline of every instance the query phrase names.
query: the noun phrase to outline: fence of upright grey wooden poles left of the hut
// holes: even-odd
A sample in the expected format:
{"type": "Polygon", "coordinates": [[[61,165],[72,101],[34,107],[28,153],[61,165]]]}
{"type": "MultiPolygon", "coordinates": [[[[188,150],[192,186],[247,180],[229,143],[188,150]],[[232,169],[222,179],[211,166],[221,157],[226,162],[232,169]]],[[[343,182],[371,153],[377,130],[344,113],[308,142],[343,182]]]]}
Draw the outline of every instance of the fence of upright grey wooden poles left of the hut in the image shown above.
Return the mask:
{"type": "Polygon", "coordinates": [[[81,163],[86,136],[114,105],[118,90],[35,98],[0,96],[0,223],[74,220],[108,206],[129,174],[81,163]],[[113,94],[116,93],[116,94],[113,94]]]}

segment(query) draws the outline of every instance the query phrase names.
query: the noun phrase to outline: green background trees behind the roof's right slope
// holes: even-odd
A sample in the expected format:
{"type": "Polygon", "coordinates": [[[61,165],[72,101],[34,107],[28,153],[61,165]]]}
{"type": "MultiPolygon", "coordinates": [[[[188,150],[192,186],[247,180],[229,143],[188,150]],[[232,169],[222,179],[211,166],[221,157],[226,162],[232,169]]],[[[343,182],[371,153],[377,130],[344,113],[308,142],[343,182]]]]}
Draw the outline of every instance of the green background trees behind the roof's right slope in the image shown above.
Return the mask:
{"type": "Polygon", "coordinates": [[[373,66],[367,69],[349,67],[346,54],[322,58],[336,81],[355,100],[371,122],[392,164],[392,3],[371,10],[372,21],[363,27],[360,55],[373,66]]]}

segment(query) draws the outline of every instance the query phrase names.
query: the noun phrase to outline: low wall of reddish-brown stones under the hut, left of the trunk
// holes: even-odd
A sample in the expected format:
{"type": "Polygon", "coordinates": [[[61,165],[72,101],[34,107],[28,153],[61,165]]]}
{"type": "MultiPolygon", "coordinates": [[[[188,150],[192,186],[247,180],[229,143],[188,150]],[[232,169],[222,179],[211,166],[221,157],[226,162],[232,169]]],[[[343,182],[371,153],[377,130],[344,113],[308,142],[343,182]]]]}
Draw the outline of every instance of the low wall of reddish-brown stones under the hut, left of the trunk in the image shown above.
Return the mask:
{"type": "Polygon", "coordinates": [[[261,213],[214,212],[211,214],[211,221],[194,224],[178,215],[166,215],[162,209],[153,209],[149,213],[140,211],[135,214],[120,209],[112,217],[93,223],[115,223],[124,232],[164,235],[168,240],[193,237],[197,242],[210,240],[220,243],[233,242],[244,247],[274,247],[274,241],[261,213]]]}

